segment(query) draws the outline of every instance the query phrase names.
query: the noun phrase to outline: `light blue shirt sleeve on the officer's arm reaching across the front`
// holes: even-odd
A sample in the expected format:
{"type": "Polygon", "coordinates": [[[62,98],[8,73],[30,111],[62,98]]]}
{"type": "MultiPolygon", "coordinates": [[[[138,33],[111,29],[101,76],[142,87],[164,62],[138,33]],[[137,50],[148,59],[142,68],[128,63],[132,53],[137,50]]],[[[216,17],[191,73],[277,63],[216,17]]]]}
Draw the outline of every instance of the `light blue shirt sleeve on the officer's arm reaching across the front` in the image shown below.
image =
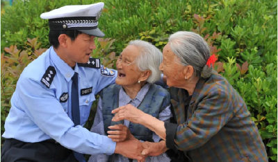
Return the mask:
{"type": "Polygon", "coordinates": [[[42,131],[61,145],[84,154],[113,154],[116,143],[74,123],[56,99],[53,89],[25,78],[17,85],[26,114],[42,131]]]}

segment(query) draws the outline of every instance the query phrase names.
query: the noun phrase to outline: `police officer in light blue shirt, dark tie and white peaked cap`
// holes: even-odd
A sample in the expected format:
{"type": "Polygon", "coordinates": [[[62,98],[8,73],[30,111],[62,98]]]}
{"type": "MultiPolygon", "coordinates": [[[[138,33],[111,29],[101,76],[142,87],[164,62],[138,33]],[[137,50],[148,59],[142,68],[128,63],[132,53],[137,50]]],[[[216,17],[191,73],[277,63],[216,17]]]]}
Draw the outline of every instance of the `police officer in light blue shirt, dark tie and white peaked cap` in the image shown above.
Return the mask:
{"type": "Polygon", "coordinates": [[[95,94],[115,83],[117,71],[90,57],[104,3],[64,6],[43,13],[51,47],[28,64],[6,118],[1,160],[85,161],[83,154],[122,154],[144,160],[137,140],[115,143],[83,125],[95,94]],[[126,149],[129,148],[129,149],[126,149]]]}

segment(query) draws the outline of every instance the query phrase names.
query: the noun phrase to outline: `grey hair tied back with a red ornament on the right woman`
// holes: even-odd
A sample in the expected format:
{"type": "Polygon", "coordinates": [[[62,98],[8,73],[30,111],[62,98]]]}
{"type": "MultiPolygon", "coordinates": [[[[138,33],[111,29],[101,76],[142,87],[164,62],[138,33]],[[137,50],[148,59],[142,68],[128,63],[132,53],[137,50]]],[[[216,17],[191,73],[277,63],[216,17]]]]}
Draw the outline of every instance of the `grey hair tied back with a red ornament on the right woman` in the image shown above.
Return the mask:
{"type": "Polygon", "coordinates": [[[193,66],[193,76],[200,77],[204,72],[203,69],[208,58],[211,56],[211,50],[204,38],[193,32],[179,31],[170,35],[169,43],[180,63],[183,66],[193,66]]]}

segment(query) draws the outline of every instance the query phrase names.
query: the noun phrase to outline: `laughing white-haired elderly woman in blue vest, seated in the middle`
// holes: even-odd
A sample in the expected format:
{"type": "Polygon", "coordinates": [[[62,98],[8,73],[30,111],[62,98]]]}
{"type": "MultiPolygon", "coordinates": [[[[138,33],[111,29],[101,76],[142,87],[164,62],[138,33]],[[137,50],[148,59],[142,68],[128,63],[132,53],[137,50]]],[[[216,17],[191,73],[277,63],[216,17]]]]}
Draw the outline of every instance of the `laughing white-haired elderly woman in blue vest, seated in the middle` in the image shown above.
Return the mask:
{"type": "MultiPolygon", "coordinates": [[[[141,40],[131,41],[124,48],[117,60],[118,75],[116,84],[103,89],[100,93],[97,114],[91,132],[108,135],[113,141],[125,141],[137,138],[140,141],[159,142],[161,138],[154,132],[129,120],[113,122],[111,111],[124,105],[133,105],[136,109],[169,122],[170,94],[166,89],[153,84],[161,79],[161,51],[149,42],[141,40]]],[[[165,141],[161,141],[162,143],[165,141]]],[[[126,148],[129,149],[129,148],[126,148]]],[[[170,161],[166,154],[149,156],[146,161],[170,161]]],[[[89,162],[101,161],[132,161],[120,154],[107,156],[105,154],[92,155],[89,162]]]]}

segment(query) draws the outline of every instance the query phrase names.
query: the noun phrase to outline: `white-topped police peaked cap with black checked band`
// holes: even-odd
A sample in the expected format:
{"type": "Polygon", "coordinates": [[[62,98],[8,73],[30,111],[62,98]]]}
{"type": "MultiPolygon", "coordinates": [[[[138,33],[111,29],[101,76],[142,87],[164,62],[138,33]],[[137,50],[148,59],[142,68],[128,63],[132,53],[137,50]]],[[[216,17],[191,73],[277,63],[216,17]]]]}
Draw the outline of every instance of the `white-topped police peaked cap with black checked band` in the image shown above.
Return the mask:
{"type": "Polygon", "coordinates": [[[72,5],[44,12],[40,17],[49,20],[50,30],[79,30],[95,37],[104,37],[97,27],[104,3],[72,5]]]}

